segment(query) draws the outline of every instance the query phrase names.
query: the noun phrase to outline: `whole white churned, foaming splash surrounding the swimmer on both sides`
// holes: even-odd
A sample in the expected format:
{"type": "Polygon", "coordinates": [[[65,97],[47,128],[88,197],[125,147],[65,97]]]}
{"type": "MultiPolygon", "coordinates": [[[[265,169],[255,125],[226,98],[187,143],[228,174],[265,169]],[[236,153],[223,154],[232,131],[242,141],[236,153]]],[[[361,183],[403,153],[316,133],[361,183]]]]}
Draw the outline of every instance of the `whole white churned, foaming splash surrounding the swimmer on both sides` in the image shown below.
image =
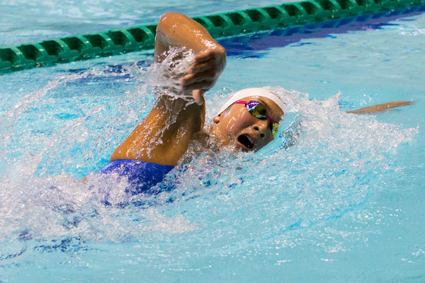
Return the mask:
{"type": "MultiPolygon", "coordinates": [[[[235,154],[194,143],[187,162],[144,194],[128,195],[125,178],[90,174],[147,115],[155,91],[174,96],[191,62],[189,53],[175,61],[179,52],[147,70],[108,66],[64,74],[1,113],[0,241],[11,248],[0,260],[138,241],[170,250],[190,246],[186,260],[197,253],[251,257],[306,242],[336,253],[363,237],[327,223],[375,221],[352,212],[369,201],[382,175],[398,170],[395,149],[418,129],[347,114],[339,109],[341,93],[314,100],[268,87],[288,105],[271,144],[235,154]],[[178,71],[170,74],[170,66],[178,71]]],[[[209,94],[212,112],[220,103],[211,101],[229,92],[209,94]]],[[[363,215],[373,213],[365,208],[363,215]]]]}

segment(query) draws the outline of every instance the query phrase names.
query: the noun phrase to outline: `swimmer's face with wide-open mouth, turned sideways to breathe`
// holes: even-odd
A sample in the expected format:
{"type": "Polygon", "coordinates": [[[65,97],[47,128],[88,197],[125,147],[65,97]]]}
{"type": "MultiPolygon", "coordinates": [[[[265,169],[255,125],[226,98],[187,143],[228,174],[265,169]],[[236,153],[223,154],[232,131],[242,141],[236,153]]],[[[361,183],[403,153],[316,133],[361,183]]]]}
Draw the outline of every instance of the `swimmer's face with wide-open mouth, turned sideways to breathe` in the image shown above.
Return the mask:
{"type": "MultiPolygon", "coordinates": [[[[283,111],[268,98],[249,96],[244,101],[257,101],[266,106],[267,114],[275,122],[280,122],[283,111]]],[[[266,118],[256,118],[244,104],[233,104],[213,119],[212,133],[224,146],[234,145],[235,149],[256,151],[273,140],[272,122],[266,118]]]]}

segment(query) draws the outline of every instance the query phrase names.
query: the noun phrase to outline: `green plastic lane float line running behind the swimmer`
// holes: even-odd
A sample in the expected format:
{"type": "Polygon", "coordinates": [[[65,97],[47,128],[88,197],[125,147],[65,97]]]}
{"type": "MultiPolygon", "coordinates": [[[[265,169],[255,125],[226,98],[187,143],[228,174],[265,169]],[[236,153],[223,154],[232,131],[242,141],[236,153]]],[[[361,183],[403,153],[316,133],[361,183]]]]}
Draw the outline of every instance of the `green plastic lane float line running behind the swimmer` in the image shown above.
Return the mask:
{"type": "MultiPolygon", "coordinates": [[[[340,18],[418,7],[425,0],[308,0],[278,6],[250,8],[193,18],[215,38],[288,28],[340,18]]],[[[74,62],[115,54],[150,50],[157,25],[109,30],[106,33],[75,35],[13,47],[0,47],[0,74],[62,62],[74,62]]]]}

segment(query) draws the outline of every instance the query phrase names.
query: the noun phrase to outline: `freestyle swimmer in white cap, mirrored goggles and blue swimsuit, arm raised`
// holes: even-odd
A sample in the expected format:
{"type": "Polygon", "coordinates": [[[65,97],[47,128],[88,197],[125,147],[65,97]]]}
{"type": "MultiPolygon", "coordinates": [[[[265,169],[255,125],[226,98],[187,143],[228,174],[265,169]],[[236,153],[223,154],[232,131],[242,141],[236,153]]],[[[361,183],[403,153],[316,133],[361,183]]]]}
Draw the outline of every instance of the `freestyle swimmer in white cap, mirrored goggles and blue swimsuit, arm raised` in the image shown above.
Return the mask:
{"type": "MultiPolygon", "coordinates": [[[[192,50],[193,63],[180,79],[177,96],[163,93],[149,115],[118,146],[111,162],[101,173],[125,175],[135,185],[132,192],[148,190],[159,183],[185,154],[193,139],[207,136],[219,146],[242,151],[257,151],[276,137],[285,114],[285,103],[264,88],[247,88],[234,93],[203,131],[205,100],[203,94],[214,86],[226,64],[225,49],[202,25],[179,13],[166,13],[157,26],[154,62],[166,57],[171,47],[192,50]],[[160,139],[161,142],[157,142],[160,139]]],[[[407,105],[410,102],[386,103],[352,111],[377,112],[407,105]]]]}

